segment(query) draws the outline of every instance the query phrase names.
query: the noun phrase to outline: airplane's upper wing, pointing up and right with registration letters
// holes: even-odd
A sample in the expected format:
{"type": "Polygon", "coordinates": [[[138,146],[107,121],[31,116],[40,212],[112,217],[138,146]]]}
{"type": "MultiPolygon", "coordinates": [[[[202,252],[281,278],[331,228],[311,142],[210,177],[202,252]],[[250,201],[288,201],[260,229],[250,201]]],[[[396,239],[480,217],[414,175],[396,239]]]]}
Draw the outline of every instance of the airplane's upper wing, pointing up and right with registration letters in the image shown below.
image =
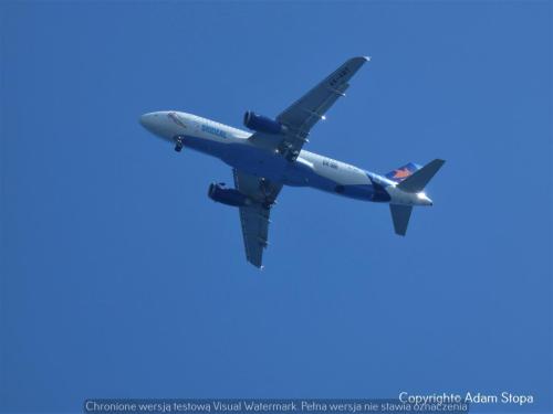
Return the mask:
{"type": "Polygon", "coordinates": [[[288,127],[281,136],[255,132],[250,139],[263,147],[271,147],[290,161],[295,160],[303,145],[307,141],[311,128],[324,119],[324,114],[348,88],[349,79],[369,57],[352,57],[325,77],[319,85],[294,102],[276,120],[288,127]]]}

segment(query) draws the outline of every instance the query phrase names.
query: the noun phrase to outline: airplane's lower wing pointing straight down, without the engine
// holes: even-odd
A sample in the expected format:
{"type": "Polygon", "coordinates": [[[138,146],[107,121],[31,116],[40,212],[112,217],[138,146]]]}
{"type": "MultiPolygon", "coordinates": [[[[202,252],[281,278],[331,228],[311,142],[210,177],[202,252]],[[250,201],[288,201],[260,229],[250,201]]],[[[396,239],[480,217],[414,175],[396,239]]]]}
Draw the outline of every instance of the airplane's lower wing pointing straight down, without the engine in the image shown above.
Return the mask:
{"type": "Polygon", "coordinates": [[[270,205],[279,195],[282,184],[233,170],[234,187],[250,197],[251,205],[239,208],[246,257],[255,267],[262,267],[263,248],[268,246],[270,205]]]}

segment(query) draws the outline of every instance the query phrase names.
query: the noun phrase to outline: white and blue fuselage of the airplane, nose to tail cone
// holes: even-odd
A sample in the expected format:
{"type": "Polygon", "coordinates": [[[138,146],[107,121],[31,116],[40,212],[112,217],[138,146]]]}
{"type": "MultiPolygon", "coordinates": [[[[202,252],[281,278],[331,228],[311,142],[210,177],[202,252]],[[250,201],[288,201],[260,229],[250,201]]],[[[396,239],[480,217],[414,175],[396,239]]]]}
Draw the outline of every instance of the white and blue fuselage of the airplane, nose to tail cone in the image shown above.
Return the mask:
{"type": "Polygon", "coordinates": [[[301,150],[294,161],[261,148],[252,134],[196,115],[156,112],[140,124],[159,138],[217,157],[232,168],[285,185],[312,187],[340,195],[404,205],[431,205],[424,193],[399,190],[396,182],[355,166],[301,150]]]}

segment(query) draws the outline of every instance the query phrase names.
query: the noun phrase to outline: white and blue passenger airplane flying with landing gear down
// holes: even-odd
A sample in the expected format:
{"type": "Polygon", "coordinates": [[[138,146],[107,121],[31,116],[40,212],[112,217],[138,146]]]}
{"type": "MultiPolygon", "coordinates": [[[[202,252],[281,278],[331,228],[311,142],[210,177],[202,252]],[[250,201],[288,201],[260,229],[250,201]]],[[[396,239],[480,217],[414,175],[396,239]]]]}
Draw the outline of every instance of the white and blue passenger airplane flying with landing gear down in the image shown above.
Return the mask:
{"type": "Polygon", "coordinates": [[[246,112],[243,125],[253,132],[177,110],[144,114],[140,124],[170,142],[177,152],[190,148],[232,167],[234,188],[212,182],[208,197],[239,210],[247,261],[263,268],[271,209],[283,185],[311,187],[362,201],[388,203],[394,230],[405,235],[415,205],[432,205],[425,187],[445,163],[409,162],[386,174],[303,149],[311,128],[345,96],[349,79],[371,60],[347,60],[275,118],[246,112]]]}

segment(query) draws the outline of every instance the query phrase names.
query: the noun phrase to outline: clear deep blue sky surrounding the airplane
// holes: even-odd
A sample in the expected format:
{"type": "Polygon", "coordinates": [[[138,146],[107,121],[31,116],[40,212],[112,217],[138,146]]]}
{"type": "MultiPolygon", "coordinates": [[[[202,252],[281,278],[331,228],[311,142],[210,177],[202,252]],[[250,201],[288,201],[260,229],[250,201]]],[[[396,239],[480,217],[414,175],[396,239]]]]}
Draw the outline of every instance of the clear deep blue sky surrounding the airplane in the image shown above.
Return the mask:
{"type": "Polygon", "coordinates": [[[511,391],[551,412],[551,17],[546,1],[0,3],[0,412],[400,391],[511,391]],[[206,197],[230,168],[138,116],[240,127],[355,55],[373,60],[306,149],[377,172],[444,158],[435,206],[400,238],[385,205],[285,188],[260,273],[238,212],[206,197]]]}

